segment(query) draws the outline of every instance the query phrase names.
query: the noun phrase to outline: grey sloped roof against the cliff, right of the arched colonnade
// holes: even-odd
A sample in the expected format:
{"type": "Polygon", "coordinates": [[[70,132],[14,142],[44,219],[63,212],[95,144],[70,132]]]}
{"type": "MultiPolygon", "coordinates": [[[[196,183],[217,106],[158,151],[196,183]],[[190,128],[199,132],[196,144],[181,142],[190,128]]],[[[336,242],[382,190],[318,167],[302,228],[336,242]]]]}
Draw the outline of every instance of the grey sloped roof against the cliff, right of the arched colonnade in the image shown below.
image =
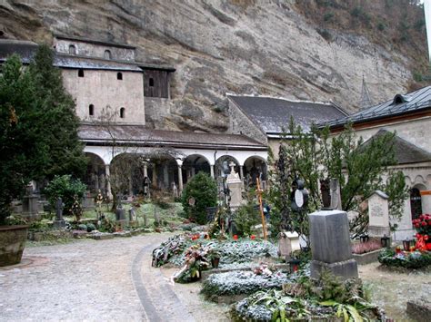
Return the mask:
{"type": "Polygon", "coordinates": [[[291,116],[305,131],[309,131],[313,123],[346,116],[346,112],[333,103],[296,102],[263,96],[228,95],[228,98],[266,133],[281,134],[291,116]]]}

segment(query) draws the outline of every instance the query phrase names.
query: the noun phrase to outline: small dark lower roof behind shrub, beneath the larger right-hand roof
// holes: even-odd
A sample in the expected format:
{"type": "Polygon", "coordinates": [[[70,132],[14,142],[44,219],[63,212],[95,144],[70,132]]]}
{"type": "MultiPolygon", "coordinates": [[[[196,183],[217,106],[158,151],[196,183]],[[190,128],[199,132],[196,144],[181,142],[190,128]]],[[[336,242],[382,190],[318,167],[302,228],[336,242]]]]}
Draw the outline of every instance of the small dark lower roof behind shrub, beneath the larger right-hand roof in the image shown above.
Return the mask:
{"type": "MultiPolygon", "coordinates": [[[[373,140],[378,136],[384,135],[387,132],[388,131],[386,131],[385,129],[379,130],[369,140],[365,141],[364,145],[366,145],[367,142],[369,142],[370,140],[373,140]]],[[[398,135],[394,136],[393,143],[396,154],[396,161],[398,164],[431,161],[431,153],[419,148],[412,142],[400,138],[398,135]]]]}

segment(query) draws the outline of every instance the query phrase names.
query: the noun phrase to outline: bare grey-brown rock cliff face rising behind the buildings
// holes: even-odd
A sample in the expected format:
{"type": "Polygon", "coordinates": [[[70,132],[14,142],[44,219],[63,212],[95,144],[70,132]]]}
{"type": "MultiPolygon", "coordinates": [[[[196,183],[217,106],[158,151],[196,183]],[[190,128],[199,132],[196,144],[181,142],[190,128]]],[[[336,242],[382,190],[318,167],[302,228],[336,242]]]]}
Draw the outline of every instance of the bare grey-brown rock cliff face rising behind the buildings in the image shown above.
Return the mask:
{"type": "Polygon", "coordinates": [[[225,131],[226,93],[332,100],[352,112],[363,75],[374,102],[389,99],[406,92],[415,59],[365,35],[333,32],[328,42],[294,0],[4,0],[0,15],[4,38],[133,44],[139,61],[175,66],[170,113],[150,120],[157,128],[225,131]]]}

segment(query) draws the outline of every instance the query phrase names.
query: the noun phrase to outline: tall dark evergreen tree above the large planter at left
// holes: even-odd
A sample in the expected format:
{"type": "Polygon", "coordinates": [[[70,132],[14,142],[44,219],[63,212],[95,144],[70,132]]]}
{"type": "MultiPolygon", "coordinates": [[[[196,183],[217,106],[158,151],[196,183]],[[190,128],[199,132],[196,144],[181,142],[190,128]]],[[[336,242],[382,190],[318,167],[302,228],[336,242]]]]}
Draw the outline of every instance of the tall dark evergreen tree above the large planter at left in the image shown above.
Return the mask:
{"type": "Polygon", "coordinates": [[[9,57],[0,74],[0,224],[29,181],[83,173],[77,127],[75,103],[49,47],[40,46],[29,68],[9,57]]]}

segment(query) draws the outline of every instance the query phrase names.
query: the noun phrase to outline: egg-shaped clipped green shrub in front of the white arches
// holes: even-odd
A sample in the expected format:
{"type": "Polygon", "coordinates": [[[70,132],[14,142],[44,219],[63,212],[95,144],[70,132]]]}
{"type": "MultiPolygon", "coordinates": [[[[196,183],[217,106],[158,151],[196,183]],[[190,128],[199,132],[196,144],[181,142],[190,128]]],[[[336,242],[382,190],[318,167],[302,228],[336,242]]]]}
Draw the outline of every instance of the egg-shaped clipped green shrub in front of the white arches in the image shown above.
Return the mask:
{"type": "Polygon", "coordinates": [[[205,172],[197,173],[187,182],[181,198],[183,208],[190,220],[199,224],[206,223],[206,207],[214,207],[217,203],[216,181],[205,172]],[[189,200],[193,198],[195,204],[191,205],[189,200]]]}

